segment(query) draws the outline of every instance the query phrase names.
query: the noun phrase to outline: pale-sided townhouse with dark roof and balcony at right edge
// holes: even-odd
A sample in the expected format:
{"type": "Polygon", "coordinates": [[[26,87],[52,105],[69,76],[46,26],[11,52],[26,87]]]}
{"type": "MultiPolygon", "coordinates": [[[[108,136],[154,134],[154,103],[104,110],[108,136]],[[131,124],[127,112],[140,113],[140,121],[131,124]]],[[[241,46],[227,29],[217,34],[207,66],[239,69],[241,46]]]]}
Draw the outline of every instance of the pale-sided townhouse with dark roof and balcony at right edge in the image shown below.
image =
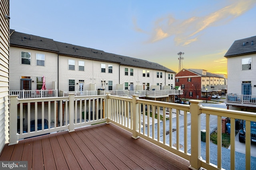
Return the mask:
{"type": "Polygon", "coordinates": [[[255,112],[256,108],[256,36],[234,41],[224,55],[228,66],[229,109],[255,112]]]}

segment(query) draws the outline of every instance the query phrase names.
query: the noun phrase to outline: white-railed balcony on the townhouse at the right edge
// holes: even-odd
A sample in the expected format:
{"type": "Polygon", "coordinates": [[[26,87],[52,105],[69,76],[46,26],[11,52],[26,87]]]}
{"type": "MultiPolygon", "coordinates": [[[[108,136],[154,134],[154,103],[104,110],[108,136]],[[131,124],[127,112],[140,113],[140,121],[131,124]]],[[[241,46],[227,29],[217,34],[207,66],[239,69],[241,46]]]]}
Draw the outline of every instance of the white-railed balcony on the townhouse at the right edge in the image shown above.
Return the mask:
{"type": "Polygon", "coordinates": [[[226,105],[256,107],[256,95],[226,94],[226,105]]]}

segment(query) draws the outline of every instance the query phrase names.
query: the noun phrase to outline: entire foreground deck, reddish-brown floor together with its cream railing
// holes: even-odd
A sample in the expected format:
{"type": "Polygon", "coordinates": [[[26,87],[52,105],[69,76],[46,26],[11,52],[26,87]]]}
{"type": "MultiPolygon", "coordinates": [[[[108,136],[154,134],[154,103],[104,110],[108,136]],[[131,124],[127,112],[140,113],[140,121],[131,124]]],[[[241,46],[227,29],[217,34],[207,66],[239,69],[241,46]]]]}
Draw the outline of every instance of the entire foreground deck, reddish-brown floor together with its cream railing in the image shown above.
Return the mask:
{"type": "Polygon", "coordinates": [[[0,160],[27,160],[28,169],[219,170],[236,169],[237,163],[242,169],[253,169],[250,121],[256,121],[255,113],[204,107],[200,100],[190,103],[112,96],[110,92],[36,99],[10,96],[9,144],[0,160]],[[218,129],[215,150],[210,142],[213,117],[218,129]],[[230,155],[222,152],[222,117],[230,118],[230,155]],[[235,157],[236,119],[246,121],[244,162],[242,155],[239,160],[235,157]],[[223,157],[229,158],[225,164],[223,157]]]}

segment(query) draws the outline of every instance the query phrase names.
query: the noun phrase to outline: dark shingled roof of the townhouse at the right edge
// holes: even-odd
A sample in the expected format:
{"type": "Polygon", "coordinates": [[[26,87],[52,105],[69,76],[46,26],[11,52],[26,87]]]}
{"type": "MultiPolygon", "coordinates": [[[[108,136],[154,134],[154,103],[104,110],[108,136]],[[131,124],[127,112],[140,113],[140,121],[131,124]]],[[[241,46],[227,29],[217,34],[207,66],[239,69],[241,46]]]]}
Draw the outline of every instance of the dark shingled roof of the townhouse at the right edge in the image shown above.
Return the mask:
{"type": "Polygon", "coordinates": [[[256,53],[256,36],[234,41],[224,57],[256,53]]]}

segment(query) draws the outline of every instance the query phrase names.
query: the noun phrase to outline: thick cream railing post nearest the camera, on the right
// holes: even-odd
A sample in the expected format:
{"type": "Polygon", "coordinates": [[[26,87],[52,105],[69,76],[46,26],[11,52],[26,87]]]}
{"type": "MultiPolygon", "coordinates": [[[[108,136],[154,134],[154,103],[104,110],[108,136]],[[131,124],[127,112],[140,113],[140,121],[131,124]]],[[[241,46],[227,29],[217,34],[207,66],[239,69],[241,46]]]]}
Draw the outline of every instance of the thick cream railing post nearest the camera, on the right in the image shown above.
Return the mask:
{"type": "Polygon", "coordinates": [[[190,169],[198,170],[201,167],[201,118],[200,105],[201,100],[190,100],[191,113],[191,157],[190,169]]]}

